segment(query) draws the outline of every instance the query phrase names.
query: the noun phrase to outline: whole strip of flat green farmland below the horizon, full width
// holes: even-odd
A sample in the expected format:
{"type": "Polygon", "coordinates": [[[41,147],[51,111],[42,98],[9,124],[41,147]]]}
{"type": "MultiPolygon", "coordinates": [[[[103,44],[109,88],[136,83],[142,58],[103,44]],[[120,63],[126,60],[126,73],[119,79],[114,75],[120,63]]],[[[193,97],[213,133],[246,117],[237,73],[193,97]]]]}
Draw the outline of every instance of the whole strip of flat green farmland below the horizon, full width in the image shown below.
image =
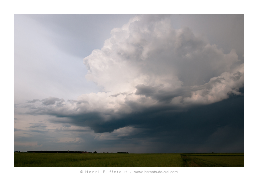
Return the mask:
{"type": "Polygon", "coordinates": [[[244,166],[243,153],[14,153],[14,166],[244,166]]]}

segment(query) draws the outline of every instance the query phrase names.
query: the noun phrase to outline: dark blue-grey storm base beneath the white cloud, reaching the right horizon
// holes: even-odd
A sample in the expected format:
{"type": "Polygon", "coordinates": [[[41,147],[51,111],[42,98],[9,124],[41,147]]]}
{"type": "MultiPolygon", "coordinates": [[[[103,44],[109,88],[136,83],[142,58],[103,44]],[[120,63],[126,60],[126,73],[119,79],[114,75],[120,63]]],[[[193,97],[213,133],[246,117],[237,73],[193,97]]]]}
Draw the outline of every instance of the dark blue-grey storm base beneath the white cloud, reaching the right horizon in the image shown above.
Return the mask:
{"type": "Polygon", "coordinates": [[[141,146],[148,142],[150,153],[244,151],[244,96],[230,95],[226,100],[187,110],[153,108],[108,122],[98,113],[70,118],[71,124],[90,126],[95,133],[111,133],[125,126],[141,130],[116,140],[99,140],[100,145],[141,146]]]}

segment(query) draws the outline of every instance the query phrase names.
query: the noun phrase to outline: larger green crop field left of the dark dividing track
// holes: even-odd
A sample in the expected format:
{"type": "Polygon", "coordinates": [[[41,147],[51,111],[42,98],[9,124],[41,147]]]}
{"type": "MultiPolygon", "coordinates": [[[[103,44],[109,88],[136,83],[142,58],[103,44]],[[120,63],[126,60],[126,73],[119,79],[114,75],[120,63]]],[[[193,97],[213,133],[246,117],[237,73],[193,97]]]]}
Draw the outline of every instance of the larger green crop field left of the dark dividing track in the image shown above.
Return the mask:
{"type": "Polygon", "coordinates": [[[14,153],[14,166],[183,166],[180,154],[14,153]]]}

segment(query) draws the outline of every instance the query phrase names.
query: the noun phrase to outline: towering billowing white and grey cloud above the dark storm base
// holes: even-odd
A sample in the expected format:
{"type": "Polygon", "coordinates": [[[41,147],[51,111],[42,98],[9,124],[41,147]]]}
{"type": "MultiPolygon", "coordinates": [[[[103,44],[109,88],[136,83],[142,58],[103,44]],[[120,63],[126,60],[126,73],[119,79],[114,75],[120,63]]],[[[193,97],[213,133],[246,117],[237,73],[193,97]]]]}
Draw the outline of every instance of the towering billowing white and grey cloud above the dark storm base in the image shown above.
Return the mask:
{"type": "Polygon", "coordinates": [[[32,100],[26,103],[27,113],[79,116],[81,122],[83,116],[88,120],[95,114],[91,122],[103,124],[153,107],[173,110],[219,102],[241,94],[244,84],[243,64],[238,64],[235,50],[224,54],[187,27],[173,29],[166,16],[130,19],[114,28],[103,48],[93,50],[83,62],[86,79],[103,92],[83,94],[77,100],[32,100]]]}

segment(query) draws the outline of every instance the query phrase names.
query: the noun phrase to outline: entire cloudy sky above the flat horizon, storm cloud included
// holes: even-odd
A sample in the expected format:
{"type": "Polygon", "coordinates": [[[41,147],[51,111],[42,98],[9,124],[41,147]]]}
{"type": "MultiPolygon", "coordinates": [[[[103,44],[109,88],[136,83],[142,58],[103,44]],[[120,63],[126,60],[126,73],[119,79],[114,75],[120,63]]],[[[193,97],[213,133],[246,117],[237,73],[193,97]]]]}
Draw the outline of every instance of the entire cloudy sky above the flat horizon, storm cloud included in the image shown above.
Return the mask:
{"type": "Polygon", "coordinates": [[[15,15],[15,151],[243,152],[243,18],[15,15]]]}

